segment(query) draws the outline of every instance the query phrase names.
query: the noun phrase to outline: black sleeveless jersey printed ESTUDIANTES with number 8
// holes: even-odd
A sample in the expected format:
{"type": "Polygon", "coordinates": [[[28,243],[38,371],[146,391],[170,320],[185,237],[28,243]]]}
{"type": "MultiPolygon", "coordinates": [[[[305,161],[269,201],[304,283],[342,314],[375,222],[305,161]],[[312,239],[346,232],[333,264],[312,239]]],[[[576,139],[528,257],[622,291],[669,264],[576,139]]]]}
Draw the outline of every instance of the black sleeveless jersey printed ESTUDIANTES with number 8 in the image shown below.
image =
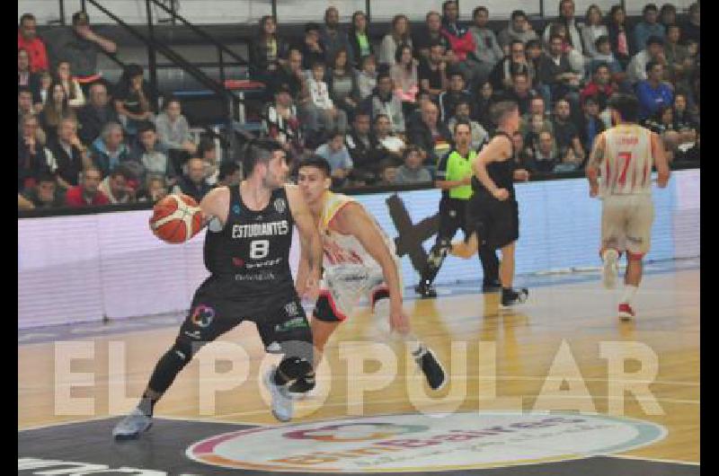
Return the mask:
{"type": "Polygon", "coordinates": [[[210,223],[205,235],[205,267],[211,273],[206,284],[222,297],[261,306],[294,293],[289,268],[293,225],[284,187],[272,192],[261,211],[245,207],[239,185],[231,187],[225,226],[213,231],[210,223]]]}

